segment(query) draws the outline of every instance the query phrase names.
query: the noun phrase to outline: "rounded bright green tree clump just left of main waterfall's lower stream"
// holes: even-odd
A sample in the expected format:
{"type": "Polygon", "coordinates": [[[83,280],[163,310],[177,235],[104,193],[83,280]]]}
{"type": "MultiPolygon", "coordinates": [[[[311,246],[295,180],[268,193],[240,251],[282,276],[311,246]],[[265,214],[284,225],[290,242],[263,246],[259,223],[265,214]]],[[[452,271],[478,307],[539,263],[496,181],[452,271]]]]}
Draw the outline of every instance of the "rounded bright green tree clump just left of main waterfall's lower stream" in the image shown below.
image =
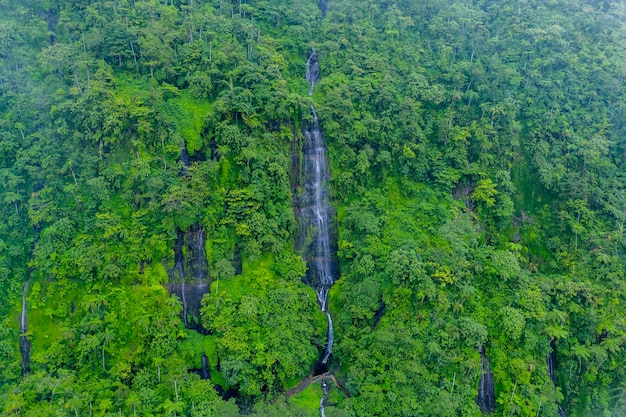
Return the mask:
{"type": "Polygon", "coordinates": [[[220,282],[203,300],[203,324],[216,338],[225,388],[249,397],[280,392],[305,376],[323,343],[314,296],[266,268],[261,263],[220,282]]]}

